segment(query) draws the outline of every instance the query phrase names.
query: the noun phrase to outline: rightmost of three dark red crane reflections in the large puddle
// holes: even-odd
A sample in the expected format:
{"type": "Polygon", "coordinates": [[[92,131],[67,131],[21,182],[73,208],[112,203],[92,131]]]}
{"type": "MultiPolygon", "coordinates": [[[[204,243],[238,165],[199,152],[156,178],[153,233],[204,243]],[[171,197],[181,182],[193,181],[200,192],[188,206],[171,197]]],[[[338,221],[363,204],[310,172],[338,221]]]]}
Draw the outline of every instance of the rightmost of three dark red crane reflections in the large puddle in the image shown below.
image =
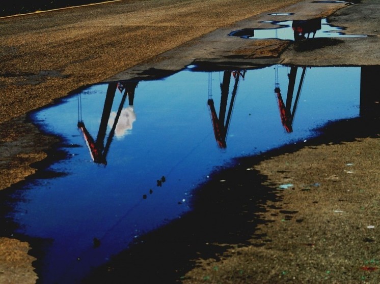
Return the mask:
{"type": "Polygon", "coordinates": [[[292,124],[294,120],[295,110],[297,108],[298,100],[300,99],[302,85],[303,85],[305,73],[306,73],[306,67],[302,67],[303,70],[302,70],[302,75],[300,79],[300,84],[298,85],[293,109],[291,109],[297,69],[298,69],[297,67],[290,68],[290,73],[288,74],[288,77],[289,77],[288,92],[286,96],[286,103],[284,103],[281,96],[280,84],[278,82],[278,66],[276,65],[275,93],[276,93],[276,98],[277,98],[279,109],[280,109],[281,122],[287,133],[293,132],[292,124]]]}

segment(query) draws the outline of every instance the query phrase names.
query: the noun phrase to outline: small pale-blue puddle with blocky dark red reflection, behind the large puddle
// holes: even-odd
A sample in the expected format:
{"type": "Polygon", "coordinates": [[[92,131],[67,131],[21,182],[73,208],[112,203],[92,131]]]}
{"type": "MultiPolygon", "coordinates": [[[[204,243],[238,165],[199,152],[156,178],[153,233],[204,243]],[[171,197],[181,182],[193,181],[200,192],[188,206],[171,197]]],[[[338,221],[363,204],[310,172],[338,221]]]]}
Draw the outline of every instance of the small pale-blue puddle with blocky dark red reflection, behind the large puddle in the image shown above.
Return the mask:
{"type": "Polygon", "coordinates": [[[229,36],[243,39],[280,39],[298,41],[309,38],[332,37],[367,37],[366,35],[346,35],[344,27],[334,26],[328,23],[326,18],[311,20],[288,21],[262,21],[278,25],[277,28],[245,28],[232,31],[229,36]]]}

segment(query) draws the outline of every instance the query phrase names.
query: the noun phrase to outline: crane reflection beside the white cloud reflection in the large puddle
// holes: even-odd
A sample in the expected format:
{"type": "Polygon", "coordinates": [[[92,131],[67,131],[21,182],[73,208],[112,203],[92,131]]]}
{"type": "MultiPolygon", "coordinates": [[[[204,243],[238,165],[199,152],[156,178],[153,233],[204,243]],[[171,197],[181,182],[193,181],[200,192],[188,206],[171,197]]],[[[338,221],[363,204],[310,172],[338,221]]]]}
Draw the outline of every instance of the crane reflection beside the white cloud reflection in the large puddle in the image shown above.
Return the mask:
{"type": "Polygon", "coordinates": [[[137,87],[138,82],[112,82],[108,84],[107,93],[105,96],[104,101],[104,107],[103,112],[100,120],[99,125],[99,131],[98,135],[96,137],[96,140],[91,136],[89,131],[87,130],[85,126],[85,122],[82,118],[82,98],[78,97],[78,124],[77,127],[80,129],[83,133],[83,136],[85,138],[87,147],[90,150],[90,155],[92,160],[97,164],[103,164],[106,165],[106,157],[108,150],[110,149],[111,142],[115,136],[115,130],[117,128],[119,119],[123,113],[123,107],[126,101],[126,98],[128,97],[129,106],[133,106],[133,100],[134,100],[134,90],[137,87]],[[112,106],[114,103],[114,98],[116,95],[116,91],[119,89],[119,91],[122,93],[123,90],[124,94],[122,96],[121,102],[119,104],[118,110],[115,117],[111,119],[111,111],[112,106]],[[106,143],[104,145],[104,140],[106,137],[106,131],[107,131],[107,125],[110,124],[110,121],[113,120],[113,123],[111,124],[111,131],[108,134],[108,138],[106,140],[106,143]]]}

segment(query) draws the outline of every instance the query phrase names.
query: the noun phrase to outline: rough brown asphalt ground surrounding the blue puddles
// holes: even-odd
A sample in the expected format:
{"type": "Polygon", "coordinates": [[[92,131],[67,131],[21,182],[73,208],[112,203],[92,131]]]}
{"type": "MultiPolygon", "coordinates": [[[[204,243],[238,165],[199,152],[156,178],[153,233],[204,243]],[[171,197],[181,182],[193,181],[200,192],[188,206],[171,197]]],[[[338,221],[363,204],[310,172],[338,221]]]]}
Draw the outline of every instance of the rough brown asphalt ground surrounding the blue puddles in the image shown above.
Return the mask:
{"type": "MultiPolygon", "coordinates": [[[[121,1],[0,19],[0,188],[6,190],[33,174],[36,168],[31,164],[51,159],[48,149],[58,141],[43,136],[26,121],[28,111],[83,85],[174,71],[191,62],[240,67],[273,63],[380,64],[380,9],[376,0],[363,0],[344,9],[340,9],[344,4],[313,6],[312,1],[286,7],[297,2],[194,0],[178,5],[170,0],[121,1]],[[333,23],[348,27],[347,32],[373,37],[325,40],[318,42],[318,49],[310,43],[278,40],[235,39],[233,44],[231,38],[220,40],[227,31],[266,18],[265,11],[284,9],[303,19],[328,16],[338,10],[331,16],[333,23]]],[[[240,161],[241,166],[216,173],[213,181],[200,190],[195,212],[187,221],[162,231],[162,238],[160,232],[147,236],[152,241],[146,242],[151,246],[144,247],[144,254],[139,247],[121,254],[95,272],[95,277],[156,282],[170,274],[162,280],[377,283],[378,121],[349,123],[332,127],[333,133],[339,134],[333,141],[331,135],[326,136],[240,161]],[[351,130],[352,125],[366,131],[352,132],[349,137],[338,131],[351,130]],[[221,184],[220,180],[228,182],[221,184]],[[278,190],[283,183],[293,186],[278,190]],[[258,193],[252,192],[252,187],[266,195],[262,198],[265,202],[257,201],[258,193]],[[231,194],[238,190],[241,195],[231,194]],[[234,202],[224,210],[228,206],[220,204],[231,198],[234,202]],[[209,200],[215,205],[210,206],[209,200]],[[210,214],[205,207],[215,210],[210,214]],[[204,230],[200,230],[195,225],[207,215],[209,223],[202,222],[204,230]],[[179,242],[184,238],[181,235],[165,238],[168,233],[178,232],[176,226],[187,228],[182,232],[191,236],[204,232],[195,240],[185,238],[189,243],[179,242]],[[139,261],[144,265],[138,266],[139,261]],[[140,274],[124,274],[128,264],[134,264],[134,271],[140,274]]],[[[0,239],[0,245],[8,248],[1,250],[0,281],[35,282],[33,258],[24,254],[25,242],[9,237],[5,232],[0,239]]]]}

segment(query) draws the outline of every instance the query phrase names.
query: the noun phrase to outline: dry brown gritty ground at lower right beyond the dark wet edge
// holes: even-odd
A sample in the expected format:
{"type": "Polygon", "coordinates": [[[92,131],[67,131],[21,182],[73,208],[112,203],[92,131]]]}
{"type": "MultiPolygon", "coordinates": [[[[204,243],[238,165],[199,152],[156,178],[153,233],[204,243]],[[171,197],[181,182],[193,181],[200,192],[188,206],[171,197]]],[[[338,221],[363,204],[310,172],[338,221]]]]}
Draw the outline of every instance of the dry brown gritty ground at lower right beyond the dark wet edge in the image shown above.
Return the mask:
{"type": "Polygon", "coordinates": [[[309,146],[253,165],[269,187],[292,185],[266,203],[248,245],[198,259],[183,283],[378,283],[379,146],[309,146]]]}

